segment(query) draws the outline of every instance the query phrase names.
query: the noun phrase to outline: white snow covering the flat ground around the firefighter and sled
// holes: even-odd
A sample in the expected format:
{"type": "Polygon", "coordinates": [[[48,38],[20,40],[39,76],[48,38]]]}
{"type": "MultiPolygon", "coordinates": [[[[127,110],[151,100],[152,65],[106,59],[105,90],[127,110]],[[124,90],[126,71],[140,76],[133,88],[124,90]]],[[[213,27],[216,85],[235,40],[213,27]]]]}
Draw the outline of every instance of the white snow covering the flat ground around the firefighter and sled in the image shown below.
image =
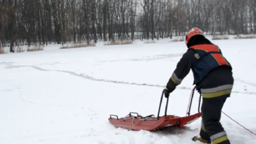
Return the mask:
{"type": "MultiPolygon", "coordinates": [[[[223,111],[256,132],[256,41],[213,43],[235,78],[223,111]]],[[[59,47],[0,55],[0,144],[200,144],[191,138],[199,134],[201,118],[190,130],[169,132],[128,131],[108,121],[110,114],[157,114],[161,92],[187,50],[184,42],[59,47]]],[[[171,93],[168,114],[185,116],[192,80],[190,72],[171,93]]],[[[195,94],[193,113],[197,102],[195,94]]],[[[256,136],[229,117],[222,115],[221,123],[231,144],[256,144],[256,136]]]]}

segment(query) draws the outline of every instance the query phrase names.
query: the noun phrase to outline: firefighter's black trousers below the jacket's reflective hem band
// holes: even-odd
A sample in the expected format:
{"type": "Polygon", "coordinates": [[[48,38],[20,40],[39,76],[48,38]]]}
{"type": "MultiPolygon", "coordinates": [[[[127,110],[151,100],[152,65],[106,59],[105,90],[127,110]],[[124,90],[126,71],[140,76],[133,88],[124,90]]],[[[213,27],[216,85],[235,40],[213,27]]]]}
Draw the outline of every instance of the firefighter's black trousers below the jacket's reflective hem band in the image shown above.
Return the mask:
{"type": "Polygon", "coordinates": [[[230,144],[227,134],[220,124],[221,109],[229,95],[216,98],[203,98],[200,136],[213,144],[230,144]]]}

